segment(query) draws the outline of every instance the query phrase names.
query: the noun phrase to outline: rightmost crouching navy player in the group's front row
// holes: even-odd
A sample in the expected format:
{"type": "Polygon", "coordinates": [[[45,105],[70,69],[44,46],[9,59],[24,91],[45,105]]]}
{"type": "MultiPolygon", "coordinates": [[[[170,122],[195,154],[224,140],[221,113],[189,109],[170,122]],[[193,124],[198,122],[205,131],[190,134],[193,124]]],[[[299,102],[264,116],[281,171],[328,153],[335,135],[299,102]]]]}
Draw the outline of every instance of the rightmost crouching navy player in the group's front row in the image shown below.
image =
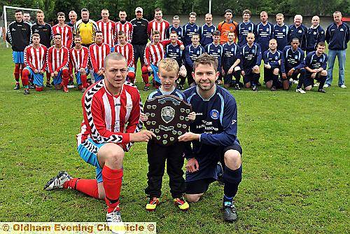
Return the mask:
{"type": "Polygon", "coordinates": [[[304,88],[305,90],[311,90],[314,87],[314,80],[318,81],[318,92],[325,92],[323,85],[327,78],[327,61],[328,57],[324,53],[325,43],[323,41],[318,42],[316,51],[310,52],[305,58],[305,76],[304,76],[304,88]]]}

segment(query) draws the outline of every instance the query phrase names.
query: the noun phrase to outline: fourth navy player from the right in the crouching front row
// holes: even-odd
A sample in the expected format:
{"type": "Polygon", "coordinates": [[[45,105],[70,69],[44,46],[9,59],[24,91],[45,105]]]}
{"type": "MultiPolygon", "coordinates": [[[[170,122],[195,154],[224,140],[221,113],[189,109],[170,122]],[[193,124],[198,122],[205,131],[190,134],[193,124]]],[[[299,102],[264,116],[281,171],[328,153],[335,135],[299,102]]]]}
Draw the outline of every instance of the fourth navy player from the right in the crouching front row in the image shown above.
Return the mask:
{"type": "Polygon", "coordinates": [[[255,35],[249,32],[246,36],[246,45],[241,48],[241,64],[244,85],[246,88],[252,88],[253,91],[258,91],[260,78],[261,64],[261,48],[258,43],[254,43],[255,35]]]}

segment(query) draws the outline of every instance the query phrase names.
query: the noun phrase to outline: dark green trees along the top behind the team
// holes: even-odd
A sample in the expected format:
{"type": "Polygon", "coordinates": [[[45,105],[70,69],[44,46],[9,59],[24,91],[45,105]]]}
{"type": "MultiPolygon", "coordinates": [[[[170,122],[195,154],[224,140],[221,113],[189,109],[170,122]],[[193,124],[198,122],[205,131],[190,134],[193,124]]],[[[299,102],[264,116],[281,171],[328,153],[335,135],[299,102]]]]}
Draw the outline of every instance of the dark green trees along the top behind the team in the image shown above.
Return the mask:
{"type": "MultiPolygon", "coordinates": [[[[74,10],[79,14],[81,8],[90,11],[90,18],[99,19],[103,8],[109,9],[110,18],[118,20],[118,12],[123,9],[129,15],[129,20],[134,18],[134,10],[137,6],[144,8],[144,17],[153,19],[154,9],[162,8],[163,14],[183,15],[191,11],[204,15],[209,11],[209,0],[193,0],[190,4],[186,0],[0,0],[0,13],[3,5],[19,6],[24,8],[40,8],[45,12],[46,21],[55,21],[56,13],[62,11],[68,13],[74,10]]],[[[225,9],[230,8],[234,15],[241,15],[244,9],[250,9],[253,15],[261,11],[269,14],[283,13],[284,15],[301,14],[304,16],[320,15],[329,16],[334,11],[342,11],[343,16],[350,15],[350,0],[212,0],[211,13],[223,15],[225,9]]]]}

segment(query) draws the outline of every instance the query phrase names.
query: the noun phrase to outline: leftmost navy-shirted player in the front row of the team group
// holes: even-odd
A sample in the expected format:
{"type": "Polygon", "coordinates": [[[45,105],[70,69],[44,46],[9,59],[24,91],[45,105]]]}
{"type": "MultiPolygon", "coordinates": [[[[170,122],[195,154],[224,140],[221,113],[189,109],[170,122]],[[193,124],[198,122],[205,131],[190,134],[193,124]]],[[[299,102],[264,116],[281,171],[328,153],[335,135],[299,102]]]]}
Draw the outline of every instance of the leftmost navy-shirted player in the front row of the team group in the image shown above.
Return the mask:
{"type": "Polygon", "coordinates": [[[183,53],[183,50],[181,50],[176,41],[176,39],[178,39],[178,34],[173,31],[170,33],[169,37],[171,43],[169,43],[169,45],[167,45],[165,48],[165,57],[171,57],[172,59],[176,60],[177,64],[179,65],[179,78],[177,79],[177,83],[179,83],[179,89],[183,90],[183,85],[185,85],[187,76],[186,67],[183,64],[185,53],[183,53]]]}

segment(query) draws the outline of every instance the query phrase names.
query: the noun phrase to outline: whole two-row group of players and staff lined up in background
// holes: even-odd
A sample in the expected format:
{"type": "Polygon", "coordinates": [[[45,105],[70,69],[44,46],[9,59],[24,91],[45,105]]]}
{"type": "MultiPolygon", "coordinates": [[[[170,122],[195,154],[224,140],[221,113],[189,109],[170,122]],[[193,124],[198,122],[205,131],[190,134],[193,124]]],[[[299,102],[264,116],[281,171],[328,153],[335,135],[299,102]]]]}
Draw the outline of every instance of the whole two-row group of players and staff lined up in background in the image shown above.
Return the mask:
{"type": "Polygon", "coordinates": [[[90,19],[86,8],[81,10],[81,20],[77,21],[74,11],[69,13],[68,24],[65,15],[57,13],[58,24],[51,27],[44,21],[43,11],[36,12],[37,22],[33,25],[25,22],[22,11],[15,12],[15,21],[8,26],[6,40],[12,45],[15,62],[15,90],[20,88],[20,78],[25,86],[43,90],[43,76],[46,74],[46,87],[63,88],[68,92],[73,85],[73,76],[80,90],[90,83],[104,78],[104,57],[115,51],[127,58],[128,79],[134,82],[136,65],[141,60],[144,90],[150,87],[149,77],[153,75],[153,85],[160,85],[158,63],[164,57],[172,57],[180,69],[179,87],[188,81],[194,85],[193,62],[202,53],[208,53],[218,59],[220,76],[218,83],[226,88],[244,86],[258,90],[260,85],[260,64],[264,61],[264,83],[267,88],[288,90],[297,83],[297,92],[305,93],[319,82],[318,91],[332,83],[332,69],[335,57],[339,60],[339,81],[344,84],[344,63],[349,26],[342,22],[342,13],[333,13],[334,23],[326,31],[319,25],[318,16],[311,20],[307,29],[302,25],[302,15],[295,15],[294,24],[284,24],[283,14],[276,15],[276,25],[267,22],[265,11],[260,13],[258,25],[250,21],[251,11],[243,12],[243,22],[232,20],[232,11],[225,11],[225,20],[212,24],[212,15],[205,15],[205,24],[200,27],[196,13],[189,15],[189,22],[181,27],[178,15],[173,25],[162,19],[160,8],[155,9],[155,19],[148,22],[143,18],[143,9],[135,9],[136,18],[127,22],[125,11],[119,12],[120,22],[109,20],[109,11],[102,10],[102,20],[90,19]],[[53,46],[52,44],[53,39],[53,46]],[[151,42],[148,42],[150,40],[151,42]],[[325,55],[325,43],[328,43],[329,57],[325,55]],[[30,44],[29,44],[30,43],[30,44]],[[305,57],[306,53],[306,57],[305,57]],[[328,70],[326,69],[328,62],[328,70]],[[87,75],[90,74],[90,79],[87,75]],[[299,78],[298,78],[299,76],[299,78]],[[233,80],[235,77],[235,80],[233,80]],[[50,83],[52,78],[52,83],[50,83]],[[299,79],[299,81],[297,81],[299,79]]]}

